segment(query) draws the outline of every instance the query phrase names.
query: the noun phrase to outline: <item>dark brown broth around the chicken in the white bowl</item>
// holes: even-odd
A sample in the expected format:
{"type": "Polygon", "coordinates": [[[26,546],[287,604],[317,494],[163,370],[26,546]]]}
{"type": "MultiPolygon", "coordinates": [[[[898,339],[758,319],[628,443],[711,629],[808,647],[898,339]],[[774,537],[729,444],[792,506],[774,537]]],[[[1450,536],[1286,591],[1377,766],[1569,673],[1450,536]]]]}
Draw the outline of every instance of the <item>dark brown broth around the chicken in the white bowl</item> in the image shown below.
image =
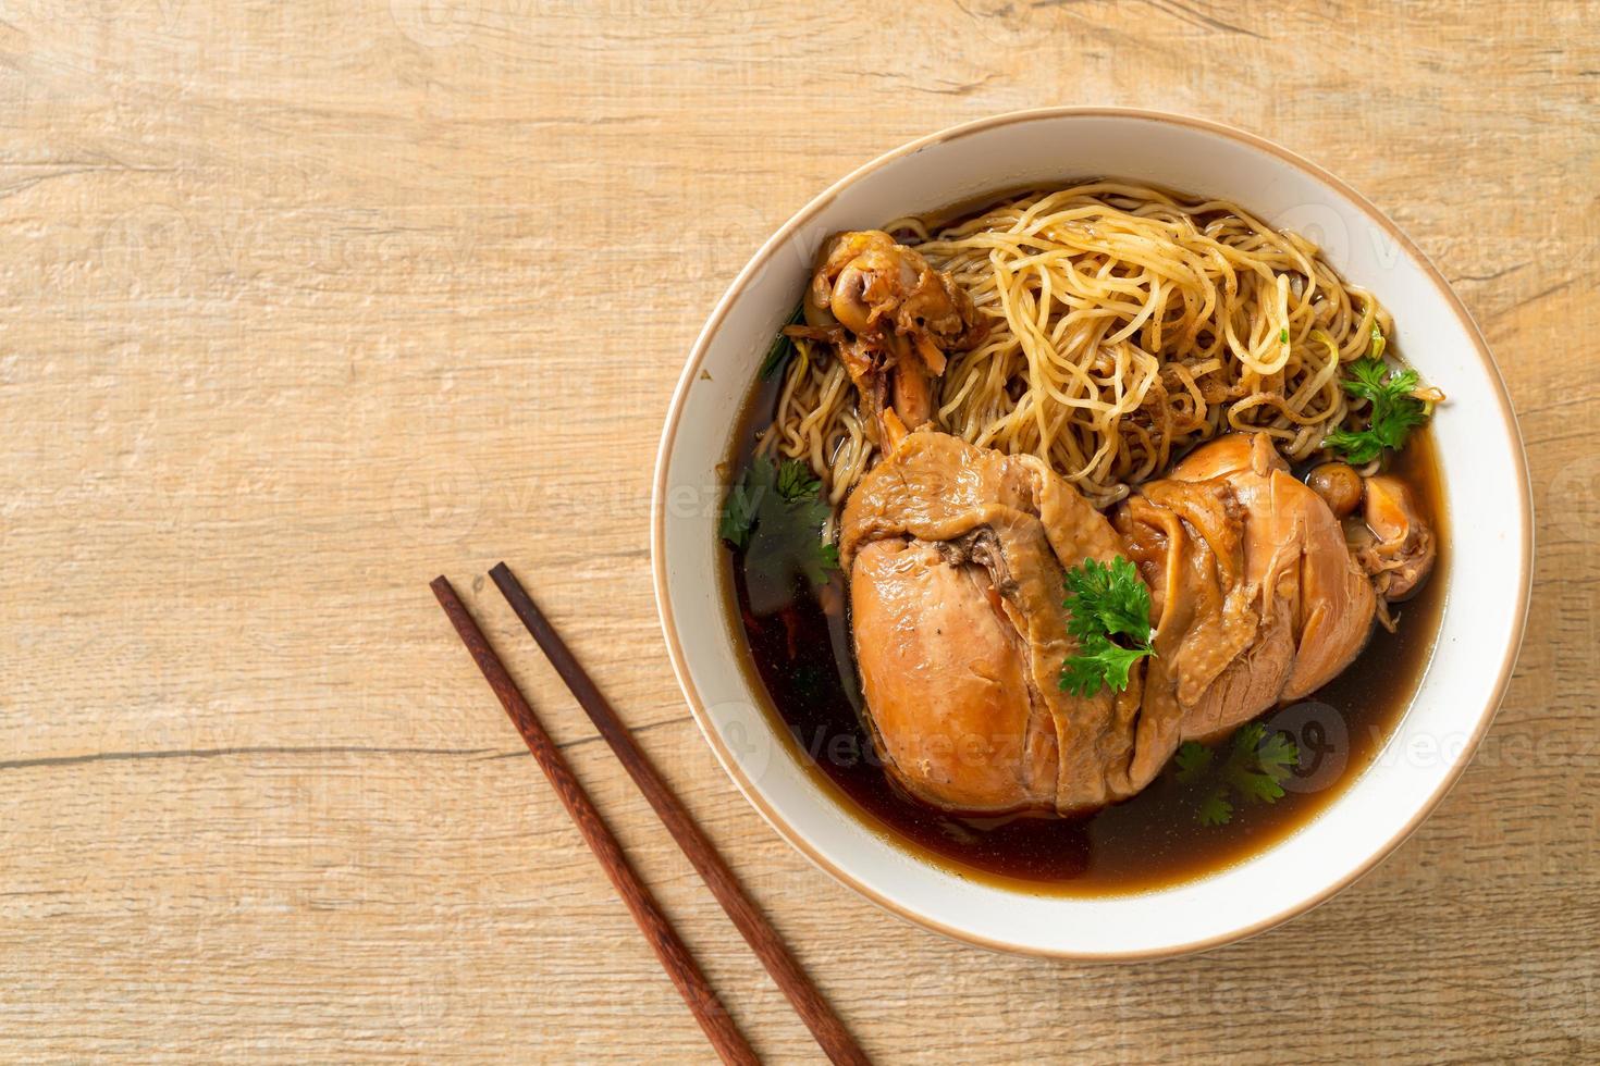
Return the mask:
{"type": "MultiPolygon", "coordinates": [[[[773,384],[754,390],[733,470],[749,462],[755,428],[768,424],[774,403],[773,384]]],[[[1269,730],[1293,735],[1302,766],[1275,804],[1235,802],[1232,821],[1221,826],[1195,818],[1214,782],[1184,785],[1173,766],[1138,796],[1078,818],[968,818],[926,807],[888,780],[861,724],[842,577],[819,590],[798,577],[774,582],[747,567],[746,553],[725,550],[725,603],[733,630],[746,638],[746,670],[760,682],[752,687],[766,694],[765,710],[790,742],[792,758],[875,833],[962,877],[1022,892],[1147,892],[1238,863],[1302,828],[1371,766],[1410,706],[1438,633],[1450,542],[1427,430],[1411,435],[1392,471],[1435,521],[1434,575],[1402,604],[1397,633],[1374,628],[1362,655],[1331,684],[1261,719],[1269,730]]],[[[1216,759],[1224,754],[1218,746],[1216,759]]]]}

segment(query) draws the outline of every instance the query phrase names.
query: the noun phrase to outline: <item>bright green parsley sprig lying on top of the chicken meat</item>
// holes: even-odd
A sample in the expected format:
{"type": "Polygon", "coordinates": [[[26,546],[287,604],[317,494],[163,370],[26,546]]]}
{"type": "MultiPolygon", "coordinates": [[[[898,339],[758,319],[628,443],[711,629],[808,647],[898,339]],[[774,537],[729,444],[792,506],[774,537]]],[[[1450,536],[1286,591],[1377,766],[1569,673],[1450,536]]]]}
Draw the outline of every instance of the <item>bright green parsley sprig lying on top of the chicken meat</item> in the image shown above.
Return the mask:
{"type": "Polygon", "coordinates": [[[1150,590],[1139,579],[1133,563],[1115,558],[1109,566],[1085,559],[1067,571],[1067,599],[1072,615],[1067,633],[1078,641],[1078,650],[1061,665],[1064,692],[1088,698],[1110,686],[1114,692],[1128,687],[1128,671],[1150,647],[1150,590]],[[1125,644],[1110,638],[1122,636],[1125,644]]]}

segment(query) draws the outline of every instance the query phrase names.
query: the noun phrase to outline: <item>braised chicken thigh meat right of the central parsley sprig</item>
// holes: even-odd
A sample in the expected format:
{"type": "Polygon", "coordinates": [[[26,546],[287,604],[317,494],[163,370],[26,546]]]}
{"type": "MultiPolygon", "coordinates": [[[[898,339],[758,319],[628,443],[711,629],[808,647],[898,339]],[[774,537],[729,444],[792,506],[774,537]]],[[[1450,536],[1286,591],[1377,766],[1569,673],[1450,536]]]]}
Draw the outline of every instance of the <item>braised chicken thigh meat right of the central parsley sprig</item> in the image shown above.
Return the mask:
{"type": "Polygon", "coordinates": [[[1182,713],[1178,740],[1154,722],[1141,737],[1157,770],[1182,740],[1317,690],[1371,633],[1373,588],[1338,519],[1264,433],[1198,447],[1118,505],[1114,523],[1160,601],[1146,716],[1166,700],[1182,713]]]}

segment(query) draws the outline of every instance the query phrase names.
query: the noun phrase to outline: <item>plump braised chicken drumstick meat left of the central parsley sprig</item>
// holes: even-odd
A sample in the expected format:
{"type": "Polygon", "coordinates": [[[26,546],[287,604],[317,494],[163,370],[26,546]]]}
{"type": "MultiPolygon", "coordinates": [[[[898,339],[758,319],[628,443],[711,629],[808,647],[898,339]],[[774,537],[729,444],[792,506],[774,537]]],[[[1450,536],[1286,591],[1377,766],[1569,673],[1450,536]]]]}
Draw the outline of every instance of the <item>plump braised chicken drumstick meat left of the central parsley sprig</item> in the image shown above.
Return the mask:
{"type": "Polygon", "coordinates": [[[918,432],[856,486],[838,550],[867,726],[901,788],[966,812],[1112,799],[1112,694],[1058,687],[1064,566],[1122,553],[1088,500],[1032,455],[918,432]]]}

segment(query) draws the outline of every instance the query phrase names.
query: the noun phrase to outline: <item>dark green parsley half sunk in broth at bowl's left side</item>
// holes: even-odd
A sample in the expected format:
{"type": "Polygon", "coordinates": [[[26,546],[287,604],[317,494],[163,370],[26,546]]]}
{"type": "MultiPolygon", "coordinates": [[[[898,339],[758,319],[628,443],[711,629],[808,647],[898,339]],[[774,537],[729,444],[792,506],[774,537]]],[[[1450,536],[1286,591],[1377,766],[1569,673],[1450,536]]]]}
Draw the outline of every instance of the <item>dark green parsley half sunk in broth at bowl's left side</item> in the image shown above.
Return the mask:
{"type": "Polygon", "coordinates": [[[728,487],[717,534],[734,548],[750,548],[750,566],[794,566],[813,585],[838,569],[838,547],[822,540],[832,508],[822,483],[798,459],[781,465],[757,455],[728,487]]]}

